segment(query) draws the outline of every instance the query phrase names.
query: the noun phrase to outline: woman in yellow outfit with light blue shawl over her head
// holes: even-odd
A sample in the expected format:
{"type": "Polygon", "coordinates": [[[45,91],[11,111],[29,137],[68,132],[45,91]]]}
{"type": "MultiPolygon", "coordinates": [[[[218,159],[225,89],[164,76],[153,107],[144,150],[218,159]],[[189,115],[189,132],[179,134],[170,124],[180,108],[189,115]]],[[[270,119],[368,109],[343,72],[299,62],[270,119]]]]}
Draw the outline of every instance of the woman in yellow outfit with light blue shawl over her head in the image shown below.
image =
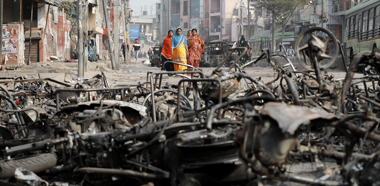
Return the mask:
{"type": "MultiPolygon", "coordinates": [[[[177,28],[176,34],[171,40],[171,58],[178,63],[187,64],[186,56],[188,55],[186,37],[182,35],[182,28],[177,28]]],[[[174,64],[174,71],[184,71],[186,66],[174,64]]]]}

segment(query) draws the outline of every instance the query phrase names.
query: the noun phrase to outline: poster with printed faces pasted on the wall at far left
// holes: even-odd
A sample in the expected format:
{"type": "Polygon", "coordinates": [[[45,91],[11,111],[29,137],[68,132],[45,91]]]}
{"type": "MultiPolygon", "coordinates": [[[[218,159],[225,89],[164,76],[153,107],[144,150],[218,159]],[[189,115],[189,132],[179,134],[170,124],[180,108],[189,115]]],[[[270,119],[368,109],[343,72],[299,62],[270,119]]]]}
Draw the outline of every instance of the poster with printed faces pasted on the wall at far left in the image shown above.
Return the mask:
{"type": "Polygon", "coordinates": [[[18,51],[18,38],[17,33],[9,32],[7,27],[3,27],[3,41],[2,41],[2,52],[3,53],[17,53],[18,51]]]}

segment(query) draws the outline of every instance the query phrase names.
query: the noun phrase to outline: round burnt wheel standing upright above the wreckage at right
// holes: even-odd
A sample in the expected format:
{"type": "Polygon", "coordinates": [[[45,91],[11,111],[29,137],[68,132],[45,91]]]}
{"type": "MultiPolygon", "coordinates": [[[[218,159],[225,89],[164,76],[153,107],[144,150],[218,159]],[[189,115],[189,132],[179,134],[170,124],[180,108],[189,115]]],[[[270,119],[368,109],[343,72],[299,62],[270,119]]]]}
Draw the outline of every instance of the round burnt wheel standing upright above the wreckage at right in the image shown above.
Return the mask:
{"type": "Polygon", "coordinates": [[[332,35],[330,31],[320,27],[313,27],[303,31],[301,35],[298,36],[294,46],[294,52],[296,53],[298,62],[307,70],[312,71],[314,71],[314,66],[310,62],[311,60],[307,58],[310,58],[310,53],[316,52],[315,56],[317,56],[318,66],[320,69],[325,70],[335,62],[338,51],[339,46],[335,36],[332,35]],[[315,33],[318,33],[319,36],[316,36],[315,33]],[[317,50],[309,51],[309,44],[312,44],[317,50]],[[303,56],[301,56],[301,54],[303,56]]]}

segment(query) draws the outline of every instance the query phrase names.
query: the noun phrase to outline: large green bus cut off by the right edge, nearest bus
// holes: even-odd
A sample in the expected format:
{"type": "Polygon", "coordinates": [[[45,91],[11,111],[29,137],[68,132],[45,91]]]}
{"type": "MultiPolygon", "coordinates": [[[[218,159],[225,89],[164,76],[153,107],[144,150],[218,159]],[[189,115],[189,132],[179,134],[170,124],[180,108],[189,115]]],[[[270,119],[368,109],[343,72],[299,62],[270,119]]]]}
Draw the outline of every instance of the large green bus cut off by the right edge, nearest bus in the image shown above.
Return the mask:
{"type": "Polygon", "coordinates": [[[364,50],[380,47],[380,0],[364,0],[345,14],[343,55],[346,64],[364,50]]]}

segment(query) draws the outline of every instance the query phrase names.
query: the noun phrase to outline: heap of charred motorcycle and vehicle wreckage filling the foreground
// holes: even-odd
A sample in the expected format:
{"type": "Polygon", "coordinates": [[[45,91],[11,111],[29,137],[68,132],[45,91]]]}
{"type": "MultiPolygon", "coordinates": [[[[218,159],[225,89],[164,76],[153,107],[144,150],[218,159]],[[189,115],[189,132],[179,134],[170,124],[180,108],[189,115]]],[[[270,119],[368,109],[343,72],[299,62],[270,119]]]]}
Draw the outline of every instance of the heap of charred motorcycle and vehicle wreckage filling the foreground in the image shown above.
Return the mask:
{"type": "Polygon", "coordinates": [[[380,51],[351,56],[346,77],[336,80],[325,71],[343,53],[334,36],[310,28],[299,38],[296,55],[306,71],[269,50],[250,62],[266,59],[278,72],[271,82],[245,73],[241,56],[208,77],[188,66],[112,87],[104,73],[74,86],[2,80],[0,184],[380,185],[380,51]],[[353,78],[359,64],[364,75],[353,78]],[[164,83],[165,74],[184,78],[164,83]],[[231,98],[239,81],[251,88],[231,98]],[[324,158],[336,159],[339,176],[286,169],[324,158]]]}

